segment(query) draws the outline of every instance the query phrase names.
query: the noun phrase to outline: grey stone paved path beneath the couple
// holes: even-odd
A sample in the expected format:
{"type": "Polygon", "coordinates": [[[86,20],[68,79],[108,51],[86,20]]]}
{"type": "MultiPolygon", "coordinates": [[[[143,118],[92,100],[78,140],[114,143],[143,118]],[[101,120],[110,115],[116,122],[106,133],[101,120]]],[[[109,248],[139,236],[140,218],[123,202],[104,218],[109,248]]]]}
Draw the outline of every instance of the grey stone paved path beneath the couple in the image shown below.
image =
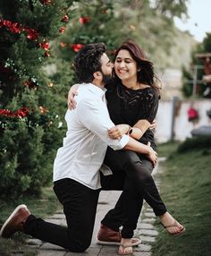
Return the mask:
{"type": "MultiPolygon", "coordinates": [[[[159,162],[165,160],[164,158],[159,158],[159,162]]],[[[159,188],[160,181],[156,177],[157,172],[161,172],[161,168],[157,165],[154,170],[156,185],[159,188]]],[[[67,252],[63,250],[62,247],[50,244],[43,243],[38,239],[29,239],[28,246],[30,248],[38,249],[38,256],[112,256],[117,255],[117,246],[104,246],[96,243],[96,237],[98,228],[100,225],[100,220],[105,216],[105,213],[114,207],[115,202],[117,201],[121,192],[109,191],[109,192],[100,192],[100,197],[97,206],[97,217],[96,223],[94,227],[94,233],[92,238],[92,243],[87,250],[87,252],[83,253],[75,253],[75,252],[67,252]]],[[[62,211],[58,211],[54,216],[47,218],[47,221],[53,222],[59,225],[65,225],[65,218],[63,216],[62,211]]],[[[137,226],[137,230],[135,232],[135,236],[139,237],[142,241],[139,246],[134,247],[134,256],[150,256],[151,245],[156,242],[156,227],[153,225],[156,220],[156,216],[153,210],[148,206],[145,202],[144,207],[141,211],[139,217],[139,223],[137,226]]],[[[17,256],[17,254],[15,254],[17,256]]]]}

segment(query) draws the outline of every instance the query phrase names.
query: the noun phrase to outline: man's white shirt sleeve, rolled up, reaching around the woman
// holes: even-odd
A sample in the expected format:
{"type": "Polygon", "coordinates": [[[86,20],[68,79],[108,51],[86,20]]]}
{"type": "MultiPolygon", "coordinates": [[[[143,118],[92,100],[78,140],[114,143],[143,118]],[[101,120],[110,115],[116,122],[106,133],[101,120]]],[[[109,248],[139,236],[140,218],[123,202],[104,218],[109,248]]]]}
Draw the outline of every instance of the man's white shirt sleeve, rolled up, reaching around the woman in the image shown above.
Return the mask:
{"type": "Polygon", "coordinates": [[[128,135],[123,135],[121,140],[113,140],[108,137],[107,130],[114,127],[102,100],[86,98],[81,100],[76,107],[80,123],[89,131],[97,134],[108,146],[114,150],[122,149],[129,141],[128,135]]]}

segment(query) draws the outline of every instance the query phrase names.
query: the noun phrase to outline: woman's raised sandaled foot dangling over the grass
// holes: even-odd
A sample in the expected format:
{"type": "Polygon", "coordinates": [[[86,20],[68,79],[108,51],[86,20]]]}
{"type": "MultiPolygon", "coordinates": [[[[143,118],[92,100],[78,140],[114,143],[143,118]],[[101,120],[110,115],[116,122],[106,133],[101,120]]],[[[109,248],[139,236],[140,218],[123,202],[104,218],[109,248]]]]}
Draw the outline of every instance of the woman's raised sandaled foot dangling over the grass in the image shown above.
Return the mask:
{"type": "Polygon", "coordinates": [[[165,227],[169,235],[181,235],[185,231],[185,227],[172,217],[169,212],[159,216],[161,224],[165,227]]]}

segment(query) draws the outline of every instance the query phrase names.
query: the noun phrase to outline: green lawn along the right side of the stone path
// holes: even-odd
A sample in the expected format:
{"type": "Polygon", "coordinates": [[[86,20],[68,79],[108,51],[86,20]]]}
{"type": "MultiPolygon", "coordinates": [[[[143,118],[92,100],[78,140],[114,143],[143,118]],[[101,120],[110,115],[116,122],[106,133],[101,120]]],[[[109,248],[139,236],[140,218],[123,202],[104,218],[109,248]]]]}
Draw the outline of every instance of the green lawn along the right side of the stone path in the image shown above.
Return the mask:
{"type": "MultiPolygon", "coordinates": [[[[155,256],[211,255],[211,149],[176,151],[178,144],[167,143],[158,152],[168,159],[161,174],[161,195],[168,210],[186,227],[181,236],[167,235],[161,226],[155,256]]],[[[192,147],[192,146],[191,146],[192,147]]]]}

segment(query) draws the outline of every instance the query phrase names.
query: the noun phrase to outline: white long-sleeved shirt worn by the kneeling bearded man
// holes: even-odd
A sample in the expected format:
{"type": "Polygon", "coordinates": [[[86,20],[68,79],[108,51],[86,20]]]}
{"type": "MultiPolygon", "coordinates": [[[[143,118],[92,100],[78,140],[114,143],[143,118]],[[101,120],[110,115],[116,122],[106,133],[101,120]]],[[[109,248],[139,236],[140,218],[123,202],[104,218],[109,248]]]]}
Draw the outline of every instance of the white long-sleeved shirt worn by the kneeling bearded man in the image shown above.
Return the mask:
{"type": "Polygon", "coordinates": [[[71,178],[91,189],[99,189],[99,169],[107,146],[117,150],[128,143],[128,135],[123,135],[121,140],[108,137],[107,130],[114,127],[114,123],[103,98],[105,90],[92,83],[80,84],[75,97],[77,106],[72,111],[67,110],[65,115],[68,130],[63,147],[57,150],[54,181],[71,178]]]}

